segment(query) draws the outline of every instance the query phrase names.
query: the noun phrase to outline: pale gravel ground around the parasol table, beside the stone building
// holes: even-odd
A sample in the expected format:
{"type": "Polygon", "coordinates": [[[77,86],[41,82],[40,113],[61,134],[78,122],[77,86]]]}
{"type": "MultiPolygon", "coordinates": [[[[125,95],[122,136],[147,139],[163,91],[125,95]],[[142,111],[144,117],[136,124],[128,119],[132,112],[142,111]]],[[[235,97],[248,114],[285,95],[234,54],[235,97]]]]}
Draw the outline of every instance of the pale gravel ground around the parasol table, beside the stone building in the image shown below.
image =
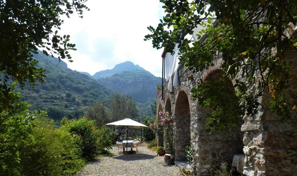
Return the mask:
{"type": "Polygon", "coordinates": [[[157,156],[156,152],[146,147],[139,146],[138,152],[125,155],[119,154],[117,147],[113,147],[111,152],[115,154],[114,157],[98,158],[86,165],[76,176],[179,175],[178,167],[165,164],[164,156],[157,156]]]}

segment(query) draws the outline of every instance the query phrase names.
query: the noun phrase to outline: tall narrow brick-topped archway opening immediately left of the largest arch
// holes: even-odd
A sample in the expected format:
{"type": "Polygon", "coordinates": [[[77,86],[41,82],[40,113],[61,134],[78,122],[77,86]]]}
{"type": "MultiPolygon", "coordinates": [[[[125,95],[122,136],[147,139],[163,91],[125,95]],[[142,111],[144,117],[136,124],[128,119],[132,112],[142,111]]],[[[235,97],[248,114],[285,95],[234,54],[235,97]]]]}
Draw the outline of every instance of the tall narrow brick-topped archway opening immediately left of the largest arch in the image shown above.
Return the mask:
{"type": "Polygon", "coordinates": [[[174,110],[174,147],[175,147],[175,160],[185,161],[184,147],[190,145],[190,106],[187,94],[184,91],[179,92],[176,99],[174,110]]]}

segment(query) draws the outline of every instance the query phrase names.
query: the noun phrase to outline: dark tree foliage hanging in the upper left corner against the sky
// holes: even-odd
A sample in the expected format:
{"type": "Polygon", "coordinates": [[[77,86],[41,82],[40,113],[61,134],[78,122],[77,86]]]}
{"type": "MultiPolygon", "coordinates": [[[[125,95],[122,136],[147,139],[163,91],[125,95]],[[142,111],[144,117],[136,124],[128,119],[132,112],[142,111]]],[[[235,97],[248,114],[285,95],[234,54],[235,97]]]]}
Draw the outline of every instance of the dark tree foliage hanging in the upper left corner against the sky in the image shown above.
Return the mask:
{"type": "Polygon", "coordinates": [[[4,75],[0,90],[5,96],[11,89],[6,84],[9,79],[21,87],[26,81],[31,85],[36,80],[43,82],[45,70],[37,68],[38,61],[33,58],[37,48],[72,62],[68,50],[75,50],[75,44],[69,43],[69,35],[59,35],[53,29],[60,29],[61,16],[77,12],[83,17],[83,9],[89,10],[83,2],[86,0],[0,1],[0,72],[4,75]]]}

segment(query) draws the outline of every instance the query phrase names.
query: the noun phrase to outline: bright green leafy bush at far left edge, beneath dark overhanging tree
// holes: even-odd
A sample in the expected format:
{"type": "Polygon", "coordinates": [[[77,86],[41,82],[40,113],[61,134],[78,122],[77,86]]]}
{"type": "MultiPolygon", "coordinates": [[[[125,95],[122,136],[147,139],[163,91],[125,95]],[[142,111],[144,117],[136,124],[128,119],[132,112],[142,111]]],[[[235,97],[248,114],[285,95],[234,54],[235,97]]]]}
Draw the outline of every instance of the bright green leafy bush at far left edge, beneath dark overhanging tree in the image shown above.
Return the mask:
{"type": "Polygon", "coordinates": [[[0,175],[19,175],[19,148],[29,143],[34,115],[20,102],[19,93],[5,96],[0,92],[0,175]]]}

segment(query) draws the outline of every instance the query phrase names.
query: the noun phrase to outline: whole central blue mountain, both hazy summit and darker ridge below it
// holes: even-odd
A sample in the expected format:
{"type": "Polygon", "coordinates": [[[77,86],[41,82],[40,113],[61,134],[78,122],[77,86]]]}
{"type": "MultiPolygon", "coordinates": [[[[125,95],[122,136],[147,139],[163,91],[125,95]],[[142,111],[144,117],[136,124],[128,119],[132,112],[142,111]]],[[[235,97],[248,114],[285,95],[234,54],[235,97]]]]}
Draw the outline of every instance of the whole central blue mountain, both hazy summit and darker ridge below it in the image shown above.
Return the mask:
{"type": "MultiPolygon", "coordinates": [[[[80,73],[90,76],[86,72],[80,73]]],[[[153,103],[157,93],[156,84],[162,81],[162,78],[130,61],[117,64],[110,70],[99,71],[90,77],[116,92],[131,95],[138,103],[153,103]]]]}

